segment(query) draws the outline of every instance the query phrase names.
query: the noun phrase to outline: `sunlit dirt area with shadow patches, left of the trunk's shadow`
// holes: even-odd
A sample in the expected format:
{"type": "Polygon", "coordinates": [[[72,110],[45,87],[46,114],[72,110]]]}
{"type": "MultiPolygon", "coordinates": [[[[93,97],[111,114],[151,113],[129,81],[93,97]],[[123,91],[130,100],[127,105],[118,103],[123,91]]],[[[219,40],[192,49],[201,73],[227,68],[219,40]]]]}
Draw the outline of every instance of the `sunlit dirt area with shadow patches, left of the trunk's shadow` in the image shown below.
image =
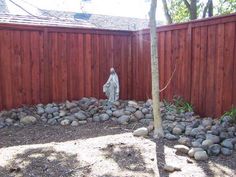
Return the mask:
{"type": "Polygon", "coordinates": [[[50,175],[54,170],[61,176],[159,176],[156,144],[131,133],[3,147],[0,169],[19,177],[27,173],[50,175]]]}

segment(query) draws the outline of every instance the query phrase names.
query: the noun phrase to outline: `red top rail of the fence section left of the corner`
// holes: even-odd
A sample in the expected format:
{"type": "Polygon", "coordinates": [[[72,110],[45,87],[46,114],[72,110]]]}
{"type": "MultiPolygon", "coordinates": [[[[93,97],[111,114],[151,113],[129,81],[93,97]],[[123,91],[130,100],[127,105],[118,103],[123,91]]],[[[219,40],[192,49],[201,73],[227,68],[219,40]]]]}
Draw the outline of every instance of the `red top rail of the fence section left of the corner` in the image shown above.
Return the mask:
{"type": "Polygon", "coordinates": [[[63,32],[63,33],[85,33],[85,34],[107,34],[107,35],[130,35],[132,31],[98,29],[88,27],[72,27],[72,26],[50,26],[39,24],[13,24],[0,23],[0,30],[28,30],[28,31],[47,31],[47,32],[63,32]]]}

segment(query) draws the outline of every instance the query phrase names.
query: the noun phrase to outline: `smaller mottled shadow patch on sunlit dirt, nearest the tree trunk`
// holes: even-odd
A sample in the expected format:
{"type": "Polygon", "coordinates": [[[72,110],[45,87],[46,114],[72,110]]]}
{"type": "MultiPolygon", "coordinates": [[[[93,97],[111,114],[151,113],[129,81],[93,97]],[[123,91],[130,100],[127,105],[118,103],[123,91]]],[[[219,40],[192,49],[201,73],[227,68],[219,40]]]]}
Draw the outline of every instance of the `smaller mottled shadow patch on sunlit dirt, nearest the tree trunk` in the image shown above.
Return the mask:
{"type": "Polygon", "coordinates": [[[139,148],[120,143],[108,144],[101,151],[104,153],[106,159],[112,159],[122,170],[142,172],[150,174],[150,176],[154,174],[153,169],[146,167],[139,148]]]}

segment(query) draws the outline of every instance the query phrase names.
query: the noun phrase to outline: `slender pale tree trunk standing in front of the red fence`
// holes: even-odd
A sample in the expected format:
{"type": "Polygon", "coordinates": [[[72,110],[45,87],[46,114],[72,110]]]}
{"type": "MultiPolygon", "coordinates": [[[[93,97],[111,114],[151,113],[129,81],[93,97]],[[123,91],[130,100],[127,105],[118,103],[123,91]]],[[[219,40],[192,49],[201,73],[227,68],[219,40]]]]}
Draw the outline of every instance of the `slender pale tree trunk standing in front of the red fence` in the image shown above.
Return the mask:
{"type": "Polygon", "coordinates": [[[157,6],[157,0],[152,0],[149,17],[150,17],[150,39],[151,39],[150,47],[151,47],[154,137],[160,138],[163,137],[164,134],[160,115],[159,70],[158,70],[157,34],[156,34],[156,6],[157,6]]]}

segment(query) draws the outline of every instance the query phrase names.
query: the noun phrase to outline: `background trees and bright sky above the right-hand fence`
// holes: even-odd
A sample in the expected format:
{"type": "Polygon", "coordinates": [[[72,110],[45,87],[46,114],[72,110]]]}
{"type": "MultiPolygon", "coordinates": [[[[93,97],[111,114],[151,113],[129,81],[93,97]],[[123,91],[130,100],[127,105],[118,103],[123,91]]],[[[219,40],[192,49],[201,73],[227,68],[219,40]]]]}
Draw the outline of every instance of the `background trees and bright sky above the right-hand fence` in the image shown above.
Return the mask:
{"type": "Polygon", "coordinates": [[[236,11],[236,0],[162,0],[162,3],[169,24],[236,11]]]}

